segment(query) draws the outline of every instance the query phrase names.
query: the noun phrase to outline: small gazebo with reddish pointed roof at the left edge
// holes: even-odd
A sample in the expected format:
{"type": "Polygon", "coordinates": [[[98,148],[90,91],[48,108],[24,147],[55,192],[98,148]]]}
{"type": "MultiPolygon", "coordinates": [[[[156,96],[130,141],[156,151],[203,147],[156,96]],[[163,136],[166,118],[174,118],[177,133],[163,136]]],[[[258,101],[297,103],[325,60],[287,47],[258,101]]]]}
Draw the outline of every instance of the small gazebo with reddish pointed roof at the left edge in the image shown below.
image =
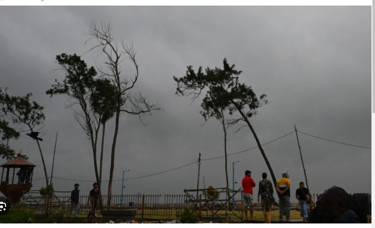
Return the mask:
{"type": "Polygon", "coordinates": [[[21,151],[13,160],[0,165],[3,167],[0,192],[7,197],[8,203],[19,203],[22,196],[30,191],[35,166],[21,156],[21,151]]]}

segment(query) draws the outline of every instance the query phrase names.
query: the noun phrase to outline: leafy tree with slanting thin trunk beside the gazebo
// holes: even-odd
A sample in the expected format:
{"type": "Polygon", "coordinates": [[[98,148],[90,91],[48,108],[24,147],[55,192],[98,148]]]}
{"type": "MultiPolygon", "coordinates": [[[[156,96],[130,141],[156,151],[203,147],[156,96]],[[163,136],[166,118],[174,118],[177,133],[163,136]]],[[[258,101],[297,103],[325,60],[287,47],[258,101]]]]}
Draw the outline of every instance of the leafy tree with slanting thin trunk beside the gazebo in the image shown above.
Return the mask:
{"type": "MultiPolygon", "coordinates": [[[[45,116],[43,113],[43,106],[40,106],[36,101],[30,101],[31,93],[26,94],[25,96],[11,96],[8,94],[7,88],[0,88],[0,106],[2,111],[6,116],[9,116],[12,119],[13,124],[15,125],[25,125],[27,131],[38,132],[34,129],[38,126],[44,127],[45,116]]],[[[40,157],[42,159],[45,183],[48,186],[48,175],[47,168],[45,166],[43,152],[40,147],[39,139],[34,138],[38,144],[40,157]]]]}

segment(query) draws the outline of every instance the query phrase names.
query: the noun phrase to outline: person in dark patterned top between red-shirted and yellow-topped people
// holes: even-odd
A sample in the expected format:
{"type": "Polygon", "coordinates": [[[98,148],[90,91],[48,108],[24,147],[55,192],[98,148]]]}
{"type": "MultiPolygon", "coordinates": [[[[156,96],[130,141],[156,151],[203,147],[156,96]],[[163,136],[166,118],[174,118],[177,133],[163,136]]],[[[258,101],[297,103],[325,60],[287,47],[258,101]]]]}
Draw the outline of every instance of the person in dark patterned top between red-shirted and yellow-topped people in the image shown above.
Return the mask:
{"type": "Polygon", "coordinates": [[[267,180],[267,174],[262,174],[262,179],[259,182],[259,189],[258,189],[258,203],[259,198],[261,199],[262,209],[263,209],[263,216],[265,223],[271,223],[272,220],[272,204],[278,206],[274,198],[274,187],[270,180],[267,180]],[[268,217],[267,217],[268,211],[268,217]]]}

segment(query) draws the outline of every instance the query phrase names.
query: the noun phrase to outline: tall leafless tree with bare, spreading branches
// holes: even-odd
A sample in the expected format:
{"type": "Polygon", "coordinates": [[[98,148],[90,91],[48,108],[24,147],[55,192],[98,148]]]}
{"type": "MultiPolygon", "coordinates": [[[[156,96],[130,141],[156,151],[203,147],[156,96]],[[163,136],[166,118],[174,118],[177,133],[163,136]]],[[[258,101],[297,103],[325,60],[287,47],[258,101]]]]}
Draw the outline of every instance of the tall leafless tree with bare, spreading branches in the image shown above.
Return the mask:
{"type": "Polygon", "coordinates": [[[136,85],[139,77],[139,66],[136,61],[136,52],[133,45],[127,46],[124,42],[121,43],[121,47],[118,47],[117,42],[114,38],[112,26],[109,23],[96,24],[95,21],[91,21],[88,24],[88,31],[85,33],[88,36],[86,43],[91,40],[95,40],[96,44],[88,50],[97,50],[102,56],[104,56],[105,70],[98,68],[103,78],[111,81],[113,86],[116,88],[117,107],[115,112],[115,134],[112,142],[111,149],[111,168],[110,168],[110,180],[108,183],[108,208],[111,206],[111,195],[112,195],[112,180],[115,168],[115,151],[117,135],[119,133],[120,115],[121,113],[127,113],[129,115],[138,116],[142,122],[142,116],[151,115],[151,112],[163,110],[157,103],[149,101],[147,96],[144,96],[141,92],[135,92],[134,86],[136,85]],[[124,56],[123,56],[124,55],[124,56]],[[130,60],[134,66],[135,75],[129,79],[124,76],[121,72],[121,64],[124,61],[124,57],[130,60]]]}

